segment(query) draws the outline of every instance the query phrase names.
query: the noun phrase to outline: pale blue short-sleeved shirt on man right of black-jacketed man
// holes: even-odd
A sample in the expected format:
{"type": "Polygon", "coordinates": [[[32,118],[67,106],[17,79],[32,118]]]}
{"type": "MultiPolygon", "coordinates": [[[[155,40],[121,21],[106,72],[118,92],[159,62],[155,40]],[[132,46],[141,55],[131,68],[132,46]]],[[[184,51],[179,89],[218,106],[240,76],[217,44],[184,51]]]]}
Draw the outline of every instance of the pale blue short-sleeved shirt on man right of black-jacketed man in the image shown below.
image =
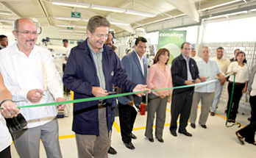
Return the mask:
{"type": "MultiPolygon", "coordinates": [[[[208,60],[206,63],[205,60],[196,61],[196,65],[199,69],[199,76],[204,76],[208,78],[206,81],[210,81],[216,78],[218,73],[221,73],[221,69],[218,66],[218,63],[213,60],[208,60]]],[[[213,93],[215,90],[215,83],[210,83],[207,85],[201,85],[195,87],[195,92],[199,93],[213,93]]]]}

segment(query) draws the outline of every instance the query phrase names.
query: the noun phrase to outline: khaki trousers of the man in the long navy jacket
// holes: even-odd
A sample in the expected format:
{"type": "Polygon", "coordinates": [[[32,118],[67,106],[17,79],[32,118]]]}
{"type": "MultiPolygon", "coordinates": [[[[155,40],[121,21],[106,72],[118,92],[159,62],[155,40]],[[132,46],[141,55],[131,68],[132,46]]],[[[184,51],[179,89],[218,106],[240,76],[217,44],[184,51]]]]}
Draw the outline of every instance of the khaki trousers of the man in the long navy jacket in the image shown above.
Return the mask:
{"type": "Polygon", "coordinates": [[[99,109],[99,135],[76,134],[79,158],[107,158],[110,148],[106,108],[99,109]]]}

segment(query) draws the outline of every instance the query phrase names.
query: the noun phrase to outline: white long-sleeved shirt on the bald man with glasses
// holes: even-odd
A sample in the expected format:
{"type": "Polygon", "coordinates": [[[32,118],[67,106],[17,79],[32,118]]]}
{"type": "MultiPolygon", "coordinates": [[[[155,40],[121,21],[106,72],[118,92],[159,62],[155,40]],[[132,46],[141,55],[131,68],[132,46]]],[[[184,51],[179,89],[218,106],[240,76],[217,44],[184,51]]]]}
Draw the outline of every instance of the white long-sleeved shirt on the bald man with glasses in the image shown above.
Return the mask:
{"type": "MultiPolygon", "coordinates": [[[[57,72],[51,53],[42,47],[34,46],[29,57],[18,50],[17,43],[0,51],[0,71],[4,84],[12,93],[18,106],[54,102],[63,98],[63,84],[57,72]],[[29,90],[40,89],[43,98],[32,103],[26,98],[29,90]]],[[[56,106],[22,108],[22,115],[28,127],[41,126],[57,116],[56,106]]]]}

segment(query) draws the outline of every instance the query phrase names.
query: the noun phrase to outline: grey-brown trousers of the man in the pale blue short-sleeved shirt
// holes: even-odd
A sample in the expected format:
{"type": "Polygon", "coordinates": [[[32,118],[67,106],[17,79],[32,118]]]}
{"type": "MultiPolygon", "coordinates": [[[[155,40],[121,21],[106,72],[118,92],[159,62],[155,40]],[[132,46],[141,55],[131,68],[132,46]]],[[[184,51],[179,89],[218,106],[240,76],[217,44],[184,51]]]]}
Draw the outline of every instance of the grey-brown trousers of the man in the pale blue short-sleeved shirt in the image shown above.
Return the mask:
{"type": "Polygon", "coordinates": [[[191,116],[189,118],[189,121],[191,121],[191,123],[196,122],[197,107],[198,107],[199,101],[201,100],[201,114],[199,118],[199,124],[205,125],[209,115],[210,104],[212,102],[212,99],[213,99],[213,93],[199,93],[199,92],[193,93],[191,116]]]}

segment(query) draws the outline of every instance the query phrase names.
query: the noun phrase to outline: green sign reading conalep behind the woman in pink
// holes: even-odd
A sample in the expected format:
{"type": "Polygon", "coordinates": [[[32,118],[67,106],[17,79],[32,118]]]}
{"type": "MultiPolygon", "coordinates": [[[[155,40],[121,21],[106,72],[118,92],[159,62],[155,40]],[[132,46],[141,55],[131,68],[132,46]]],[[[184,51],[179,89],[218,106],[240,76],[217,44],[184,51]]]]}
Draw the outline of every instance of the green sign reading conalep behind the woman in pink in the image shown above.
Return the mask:
{"type": "Polygon", "coordinates": [[[187,31],[159,31],[158,46],[157,49],[168,49],[170,51],[170,57],[168,64],[171,64],[175,57],[180,54],[180,47],[186,40],[187,31]]]}

